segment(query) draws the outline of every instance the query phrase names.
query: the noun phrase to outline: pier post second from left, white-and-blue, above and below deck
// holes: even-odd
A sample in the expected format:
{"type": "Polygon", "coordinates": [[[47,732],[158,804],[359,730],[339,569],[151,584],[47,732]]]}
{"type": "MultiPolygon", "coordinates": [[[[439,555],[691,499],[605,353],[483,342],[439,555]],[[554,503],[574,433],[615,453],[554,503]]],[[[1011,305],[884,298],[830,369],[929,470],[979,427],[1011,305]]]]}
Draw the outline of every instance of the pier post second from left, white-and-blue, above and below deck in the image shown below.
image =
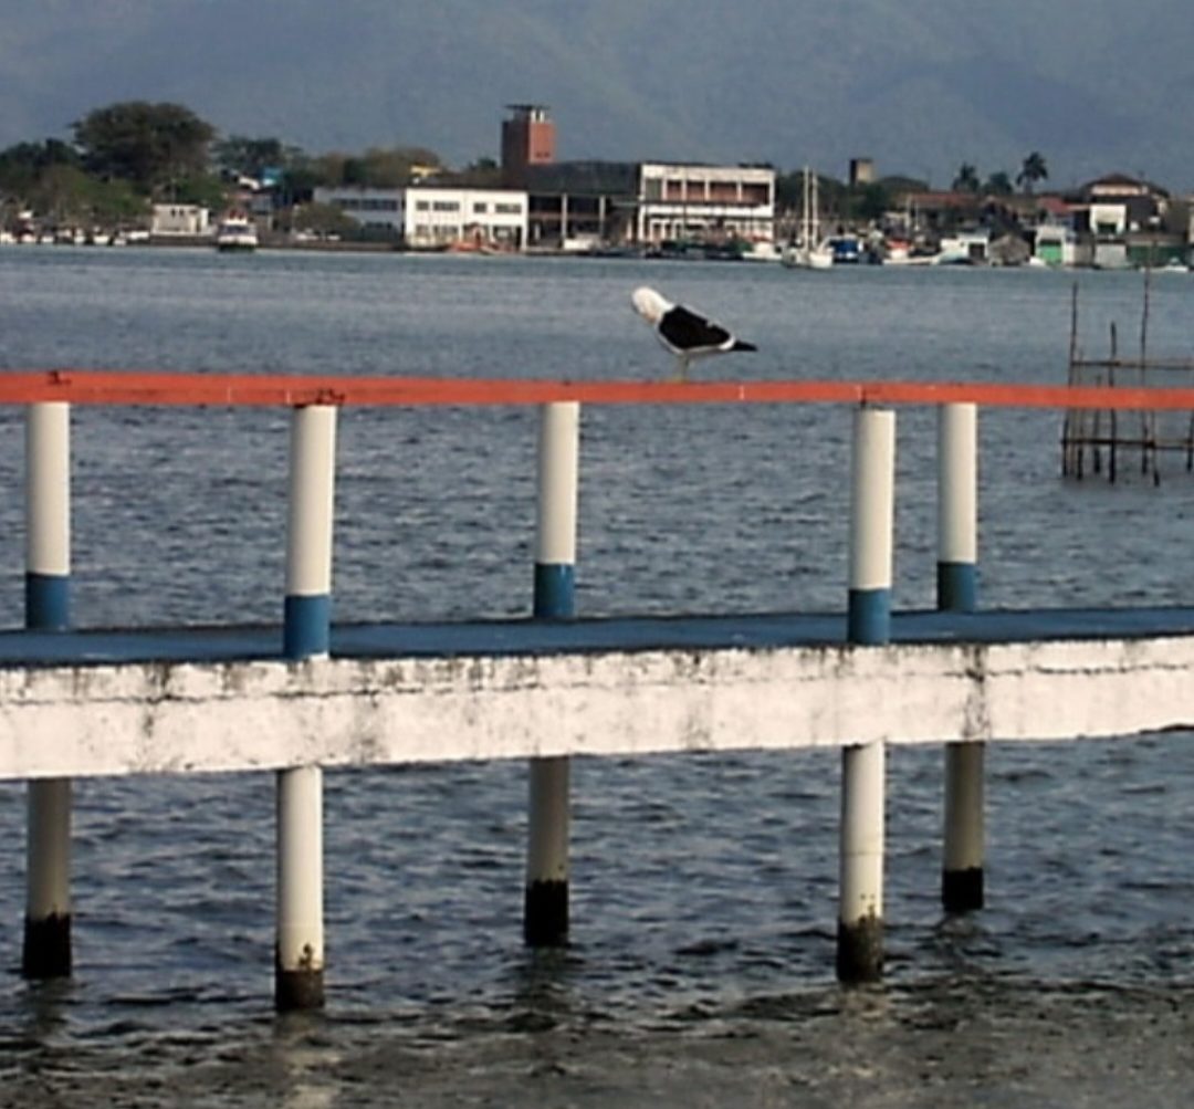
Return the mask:
{"type": "MultiPolygon", "coordinates": [[[[295,661],[327,658],[332,616],[332,517],[336,408],[295,408],[290,425],[290,492],[283,653],[295,661]]],[[[324,776],[319,766],[277,777],[277,948],[279,1010],[324,1004],[324,776]]]]}

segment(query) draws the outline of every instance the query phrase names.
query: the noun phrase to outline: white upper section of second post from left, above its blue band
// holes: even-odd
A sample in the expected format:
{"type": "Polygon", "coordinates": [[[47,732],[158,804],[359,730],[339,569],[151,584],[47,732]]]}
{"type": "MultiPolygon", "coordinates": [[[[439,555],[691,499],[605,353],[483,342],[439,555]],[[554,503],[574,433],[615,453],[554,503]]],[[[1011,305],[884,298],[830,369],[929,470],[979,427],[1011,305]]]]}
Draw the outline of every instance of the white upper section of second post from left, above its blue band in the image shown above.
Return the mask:
{"type": "Polygon", "coordinates": [[[334,472],[334,406],[295,408],[290,423],[288,597],[321,597],[332,591],[334,472]]]}

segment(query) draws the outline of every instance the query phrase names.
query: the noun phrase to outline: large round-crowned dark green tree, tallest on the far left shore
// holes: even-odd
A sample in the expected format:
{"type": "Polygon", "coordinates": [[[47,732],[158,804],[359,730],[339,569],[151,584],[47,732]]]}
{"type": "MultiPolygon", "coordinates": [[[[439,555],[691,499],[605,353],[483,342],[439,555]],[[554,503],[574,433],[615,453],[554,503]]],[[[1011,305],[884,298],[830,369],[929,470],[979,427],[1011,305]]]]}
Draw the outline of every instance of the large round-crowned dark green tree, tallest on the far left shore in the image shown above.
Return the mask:
{"type": "Polygon", "coordinates": [[[183,178],[208,170],[215,129],[180,104],[129,100],[97,109],[73,124],[84,167],[146,195],[170,196],[183,178]]]}

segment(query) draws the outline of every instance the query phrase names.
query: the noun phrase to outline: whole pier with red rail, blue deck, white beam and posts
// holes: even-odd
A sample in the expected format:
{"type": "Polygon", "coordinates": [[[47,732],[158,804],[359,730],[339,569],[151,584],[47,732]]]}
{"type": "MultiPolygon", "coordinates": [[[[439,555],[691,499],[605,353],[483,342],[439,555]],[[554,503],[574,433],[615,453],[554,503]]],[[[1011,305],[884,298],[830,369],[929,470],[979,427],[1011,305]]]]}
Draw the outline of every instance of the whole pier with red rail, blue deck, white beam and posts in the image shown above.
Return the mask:
{"type": "MultiPolygon", "coordinates": [[[[0,633],[0,777],[30,782],[23,971],[70,973],[70,782],[275,771],[278,1009],[324,1004],[325,769],[529,764],[524,935],[567,943],[568,763],[837,748],[837,976],[882,973],[884,752],[940,744],[942,905],[983,906],[983,750],[1194,727],[1194,608],[983,610],[981,406],[1194,411],[1194,389],[916,382],[560,382],[0,375],[26,409],[26,626],[0,633]],[[576,611],[583,405],[836,403],[855,412],[849,575],[836,612],[589,620],[576,611]],[[261,627],[74,628],[73,405],[291,412],[285,581],[261,627]],[[537,519],[524,618],[331,618],[336,415],[349,405],[530,405],[537,519]],[[893,609],[896,407],[938,412],[937,608],[893,609]]],[[[512,942],[515,942],[512,939],[512,942]]]]}

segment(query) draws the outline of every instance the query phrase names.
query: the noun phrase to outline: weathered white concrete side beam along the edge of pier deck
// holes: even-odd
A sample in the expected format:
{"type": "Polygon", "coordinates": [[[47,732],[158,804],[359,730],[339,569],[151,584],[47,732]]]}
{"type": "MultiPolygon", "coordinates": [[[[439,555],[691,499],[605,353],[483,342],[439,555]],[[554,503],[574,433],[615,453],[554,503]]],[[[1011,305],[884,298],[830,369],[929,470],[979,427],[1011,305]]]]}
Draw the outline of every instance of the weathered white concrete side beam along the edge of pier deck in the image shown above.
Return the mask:
{"type": "Polygon", "coordinates": [[[0,778],[1178,727],[1194,636],[0,670],[0,778]]]}

